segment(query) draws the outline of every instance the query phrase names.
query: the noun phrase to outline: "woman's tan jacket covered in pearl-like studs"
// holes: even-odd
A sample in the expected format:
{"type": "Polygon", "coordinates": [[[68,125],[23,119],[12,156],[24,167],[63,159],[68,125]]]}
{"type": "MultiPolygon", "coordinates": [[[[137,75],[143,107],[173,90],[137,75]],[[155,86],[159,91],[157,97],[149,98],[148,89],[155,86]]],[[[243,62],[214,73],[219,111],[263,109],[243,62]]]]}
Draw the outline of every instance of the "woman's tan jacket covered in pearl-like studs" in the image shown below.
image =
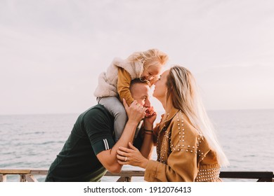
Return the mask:
{"type": "Polygon", "coordinates": [[[157,161],[149,160],[145,181],[221,181],[216,153],[182,111],[173,109],[155,127],[157,161]]]}

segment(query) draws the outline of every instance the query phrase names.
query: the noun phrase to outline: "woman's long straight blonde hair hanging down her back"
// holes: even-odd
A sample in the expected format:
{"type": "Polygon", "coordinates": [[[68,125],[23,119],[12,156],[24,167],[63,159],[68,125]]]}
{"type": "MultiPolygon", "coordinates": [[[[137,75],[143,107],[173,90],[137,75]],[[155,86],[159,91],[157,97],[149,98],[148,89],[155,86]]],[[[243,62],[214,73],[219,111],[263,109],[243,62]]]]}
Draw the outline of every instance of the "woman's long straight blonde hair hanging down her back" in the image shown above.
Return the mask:
{"type": "Polygon", "coordinates": [[[193,126],[207,139],[209,146],[216,152],[218,164],[228,165],[228,159],[218,144],[214,127],[198,94],[195,78],[185,67],[175,65],[169,69],[167,99],[171,99],[173,106],[183,111],[193,126]]]}

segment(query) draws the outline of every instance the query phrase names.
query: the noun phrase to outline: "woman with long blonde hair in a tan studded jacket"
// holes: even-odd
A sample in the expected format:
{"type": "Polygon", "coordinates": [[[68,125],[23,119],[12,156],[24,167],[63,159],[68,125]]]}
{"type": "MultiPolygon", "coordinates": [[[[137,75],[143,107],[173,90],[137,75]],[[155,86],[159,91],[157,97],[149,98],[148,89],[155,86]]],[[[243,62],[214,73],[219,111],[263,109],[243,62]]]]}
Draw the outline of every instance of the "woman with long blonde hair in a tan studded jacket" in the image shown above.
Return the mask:
{"type": "Polygon", "coordinates": [[[193,75],[183,66],[164,71],[153,92],[165,110],[153,131],[157,161],[143,158],[129,144],[117,151],[119,164],[144,168],[145,181],[221,181],[220,167],[228,160],[196,88],[193,75]]]}

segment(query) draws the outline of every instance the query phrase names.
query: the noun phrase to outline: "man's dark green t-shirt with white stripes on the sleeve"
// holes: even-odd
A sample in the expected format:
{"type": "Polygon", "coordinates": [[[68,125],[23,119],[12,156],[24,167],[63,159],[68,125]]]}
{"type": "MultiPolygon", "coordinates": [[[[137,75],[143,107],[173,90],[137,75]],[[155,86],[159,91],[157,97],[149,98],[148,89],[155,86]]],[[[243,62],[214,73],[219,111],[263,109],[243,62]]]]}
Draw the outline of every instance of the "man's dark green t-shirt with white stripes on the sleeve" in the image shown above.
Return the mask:
{"type": "Polygon", "coordinates": [[[106,169],[96,155],[115,145],[113,124],[113,117],[100,104],[81,113],[46,181],[100,181],[106,169]]]}

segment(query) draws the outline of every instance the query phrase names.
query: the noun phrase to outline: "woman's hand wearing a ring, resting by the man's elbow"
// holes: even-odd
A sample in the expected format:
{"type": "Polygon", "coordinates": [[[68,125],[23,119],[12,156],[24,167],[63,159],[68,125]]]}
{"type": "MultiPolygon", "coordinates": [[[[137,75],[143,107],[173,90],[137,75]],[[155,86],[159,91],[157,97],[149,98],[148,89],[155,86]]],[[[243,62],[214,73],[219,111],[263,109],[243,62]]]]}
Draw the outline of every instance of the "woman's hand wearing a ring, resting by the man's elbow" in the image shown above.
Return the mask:
{"type": "Polygon", "coordinates": [[[131,142],[129,142],[129,148],[119,147],[117,160],[120,165],[132,165],[142,167],[143,169],[148,165],[148,159],[144,158],[131,142]]]}

